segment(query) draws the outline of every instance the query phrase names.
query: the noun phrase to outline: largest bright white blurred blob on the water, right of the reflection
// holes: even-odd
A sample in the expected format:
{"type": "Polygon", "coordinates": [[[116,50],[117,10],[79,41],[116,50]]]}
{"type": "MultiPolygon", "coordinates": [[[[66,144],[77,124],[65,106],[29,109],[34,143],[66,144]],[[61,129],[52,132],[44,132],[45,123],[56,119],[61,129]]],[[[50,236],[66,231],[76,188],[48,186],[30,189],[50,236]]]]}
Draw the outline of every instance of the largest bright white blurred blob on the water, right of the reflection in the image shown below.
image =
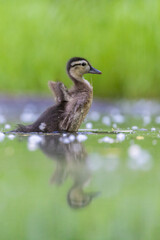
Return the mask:
{"type": "Polygon", "coordinates": [[[152,167],[151,155],[139,145],[132,145],[128,149],[128,167],[132,170],[150,170],[152,167]]]}

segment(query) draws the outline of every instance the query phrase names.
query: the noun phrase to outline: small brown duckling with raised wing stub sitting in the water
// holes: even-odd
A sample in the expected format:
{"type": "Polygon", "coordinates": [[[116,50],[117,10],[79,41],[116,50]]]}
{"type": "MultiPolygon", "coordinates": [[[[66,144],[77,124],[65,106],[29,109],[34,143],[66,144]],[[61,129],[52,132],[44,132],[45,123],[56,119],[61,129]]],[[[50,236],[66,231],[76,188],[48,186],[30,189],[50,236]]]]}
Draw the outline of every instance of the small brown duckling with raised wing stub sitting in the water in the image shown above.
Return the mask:
{"type": "Polygon", "coordinates": [[[83,75],[101,72],[81,57],[71,58],[66,70],[74,83],[73,87],[67,89],[61,82],[49,81],[48,86],[55,95],[56,104],[43,112],[33,124],[27,126],[19,124],[16,132],[75,132],[79,129],[93,99],[93,88],[83,75]]]}

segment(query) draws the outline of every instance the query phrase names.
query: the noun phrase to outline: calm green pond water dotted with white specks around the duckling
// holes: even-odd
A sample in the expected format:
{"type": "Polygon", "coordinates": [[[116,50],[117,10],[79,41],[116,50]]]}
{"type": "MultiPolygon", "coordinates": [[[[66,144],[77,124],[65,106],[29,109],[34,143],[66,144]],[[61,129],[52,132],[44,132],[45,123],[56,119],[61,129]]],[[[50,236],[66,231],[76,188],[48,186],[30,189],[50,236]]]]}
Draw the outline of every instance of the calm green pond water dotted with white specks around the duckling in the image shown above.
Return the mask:
{"type": "MultiPolygon", "coordinates": [[[[40,111],[15,109],[1,131],[40,111]]],[[[160,104],[144,101],[95,103],[77,134],[0,134],[0,239],[159,239],[159,146],[160,104]]]]}

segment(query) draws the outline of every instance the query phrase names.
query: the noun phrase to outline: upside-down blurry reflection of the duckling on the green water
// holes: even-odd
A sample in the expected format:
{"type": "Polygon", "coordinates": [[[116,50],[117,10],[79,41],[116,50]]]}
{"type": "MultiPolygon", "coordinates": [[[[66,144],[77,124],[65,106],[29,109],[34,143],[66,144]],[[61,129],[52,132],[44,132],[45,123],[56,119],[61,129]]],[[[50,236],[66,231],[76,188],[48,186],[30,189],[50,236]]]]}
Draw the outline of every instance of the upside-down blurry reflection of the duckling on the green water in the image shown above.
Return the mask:
{"type": "Polygon", "coordinates": [[[47,157],[56,161],[56,170],[51,182],[61,185],[70,176],[73,185],[67,194],[68,204],[72,208],[82,208],[90,204],[99,193],[84,192],[83,188],[91,178],[87,153],[82,143],[78,142],[74,135],[71,137],[68,141],[69,138],[66,136],[45,136],[39,146],[47,157]]]}

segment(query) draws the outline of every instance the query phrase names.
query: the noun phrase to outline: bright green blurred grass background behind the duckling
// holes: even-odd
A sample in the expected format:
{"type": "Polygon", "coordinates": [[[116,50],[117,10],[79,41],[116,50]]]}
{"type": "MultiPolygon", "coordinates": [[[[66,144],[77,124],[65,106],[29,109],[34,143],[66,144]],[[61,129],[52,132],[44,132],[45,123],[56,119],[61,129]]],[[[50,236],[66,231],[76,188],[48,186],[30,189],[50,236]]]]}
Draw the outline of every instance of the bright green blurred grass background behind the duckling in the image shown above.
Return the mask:
{"type": "Polygon", "coordinates": [[[0,91],[48,93],[47,81],[71,85],[67,60],[87,58],[94,94],[159,98],[158,0],[0,1],[0,91]]]}

